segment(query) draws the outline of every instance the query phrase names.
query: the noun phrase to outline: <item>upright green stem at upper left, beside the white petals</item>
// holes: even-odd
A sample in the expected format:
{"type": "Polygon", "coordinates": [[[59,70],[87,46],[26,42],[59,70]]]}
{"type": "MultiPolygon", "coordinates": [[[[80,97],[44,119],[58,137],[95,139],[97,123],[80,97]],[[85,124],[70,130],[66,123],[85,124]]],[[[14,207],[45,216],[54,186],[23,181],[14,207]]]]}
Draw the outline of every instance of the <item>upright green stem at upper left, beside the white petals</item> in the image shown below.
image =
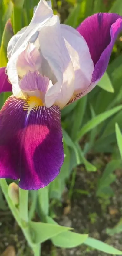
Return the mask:
{"type": "Polygon", "coordinates": [[[22,8],[13,6],[13,30],[16,34],[22,28],[22,8]]]}

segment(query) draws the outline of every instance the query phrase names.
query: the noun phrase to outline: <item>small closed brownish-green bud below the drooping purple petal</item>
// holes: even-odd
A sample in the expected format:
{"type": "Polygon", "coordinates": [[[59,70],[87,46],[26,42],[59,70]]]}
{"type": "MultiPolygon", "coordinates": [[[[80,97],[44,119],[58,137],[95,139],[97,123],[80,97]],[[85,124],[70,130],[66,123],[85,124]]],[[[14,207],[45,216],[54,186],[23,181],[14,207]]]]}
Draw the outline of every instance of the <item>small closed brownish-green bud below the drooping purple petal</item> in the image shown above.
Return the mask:
{"type": "Polygon", "coordinates": [[[16,183],[12,182],[8,186],[8,195],[15,205],[19,203],[19,187],[16,183]]]}

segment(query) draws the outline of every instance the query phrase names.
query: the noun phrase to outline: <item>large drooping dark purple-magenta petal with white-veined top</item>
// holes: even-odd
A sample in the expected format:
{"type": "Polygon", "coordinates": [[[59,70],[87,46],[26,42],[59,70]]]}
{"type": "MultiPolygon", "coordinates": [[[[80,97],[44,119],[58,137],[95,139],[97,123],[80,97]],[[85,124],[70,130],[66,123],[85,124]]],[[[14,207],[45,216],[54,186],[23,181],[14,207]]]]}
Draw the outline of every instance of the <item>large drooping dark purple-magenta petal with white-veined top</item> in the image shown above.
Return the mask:
{"type": "Polygon", "coordinates": [[[60,108],[41,106],[28,114],[24,103],[11,96],[0,111],[0,178],[20,179],[22,189],[39,189],[63,164],[60,108]]]}

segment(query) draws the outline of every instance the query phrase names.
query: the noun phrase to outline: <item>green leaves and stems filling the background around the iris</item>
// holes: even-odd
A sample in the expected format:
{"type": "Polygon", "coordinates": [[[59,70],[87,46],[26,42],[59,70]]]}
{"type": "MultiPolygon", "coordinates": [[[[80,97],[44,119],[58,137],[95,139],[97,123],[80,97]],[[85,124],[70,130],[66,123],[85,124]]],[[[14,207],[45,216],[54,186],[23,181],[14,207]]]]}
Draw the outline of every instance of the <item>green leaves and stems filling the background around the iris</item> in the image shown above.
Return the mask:
{"type": "MultiPolygon", "coordinates": [[[[33,16],[33,7],[37,4],[38,0],[0,0],[0,67],[7,64],[7,44],[12,36],[12,33],[7,30],[8,26],[5,26],[5,24],[11,18],[12,26],[16,33],[21,27],[30,23],[33,16]]],[[[74,28],[87,16],[97,12],[115,12],[122,15],[122,0],[53,0],[52,6],[54,14],[60,16],[61,23],[68,24],[74,28]]],[[[77,172],[85,172],[88,177],[91,177],[93,172],[94,178],[97,177],[98,172],[100,173],[95,185],[89,178],[89,186],[91,184],[93,187],[95,197],[101,205],[101,218],[107,209],[106,207],[110,204],[111,198],[115,196],[112,186],[117,182],[118,178],[115,171],[122,170],[121,51],[122,37],[120,35],[114,45],[107,72],[98,85],[87,96],[62,110],[64,164],[60,174],[50,185],[29,193],[28,227],[23,228],[21,216],[19,217],[18,212],[16,212],[18,206],[14,206],[14,217],[25,238],[28,240],[28,233],[31,234],[28,243],[35,255],[39,255],[36,253],[35,248],[48,239],[51,239],[51,244],[55,246],[53,248],[71,248],[81,244],[83,244],[84,248],[84,245],[87,245],[87,249],[85,249],[87,254],[84,255],[91,255],[91,247],[104,252],[104,254],[99,255],[106,255],[105,253],[122,255],[122,251],[110,247],[107,243],[88,237],[86,230],[83,230],[83,234],[80,234],[81,232],[75,233],[69,231],[71,227],[60,226],[57,223],[58,221],[54,221],[54,218],[56,219],[58,215],[56,206],[61,207],[64,191],[67,195],[67,201],[70,202],[69,204],[72,202],[73,195],[77,197],[77,193],[80,195],[79,200],[84,200],[86,195],[90,196],[89,190],[83,189],[82,186],[79,189],[75,189],[77,172]],[[104,161],[105,158],[107,161],[104,161]]],[[[1,107],[9,95],[10,93],[2,93],[0,95],[1,107]]],[[[8,180],[7,182],[9,184],[12,181],[8,180]]],[[[1,188],[11,209],[13,202],[8,195],[7,183],[3,184],[1,182],[1,188]]],[[[20,195],[22,196],[22,192],[20,195]]],[[[21,207],[24,207],[24,203],[19,205],[19,209],[21,207]]],[[[89,208],[87,205],[86,207],[89,208]]],[[[6,215],[8,207],[5,204],[2,191],[0,191],[0,208],[6,215]]],[[[93,225],[96,222],[95,214],[95,210],[92,213],[87,210],[87,215],[93,225]]],[[[113,236],[115,233],[122,231],[121,218],[117,222],[115,227],[106,227],[106,235],[113,236]]],[[[57,255],[55,250],[50,255],[57,255]]],[[[25,251],[24,249],[23,253],[27,255],[25,251]]]]}

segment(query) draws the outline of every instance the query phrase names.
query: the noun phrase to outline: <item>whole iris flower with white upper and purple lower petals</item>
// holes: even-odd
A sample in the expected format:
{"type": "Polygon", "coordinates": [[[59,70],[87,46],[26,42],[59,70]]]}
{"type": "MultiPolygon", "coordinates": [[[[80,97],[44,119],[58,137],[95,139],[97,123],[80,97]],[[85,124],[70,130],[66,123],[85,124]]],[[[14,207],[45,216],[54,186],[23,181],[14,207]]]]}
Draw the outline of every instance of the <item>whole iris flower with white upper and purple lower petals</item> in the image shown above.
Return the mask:
{"type": "Polygon", "coordinates": [[[59,174],[61,109],[101,79],[121,29],[121,16],[97,13],[75,30],[60,24],[50,1],[38,3],[29,26],[8,43],[7,74],[0,70],[1,92],[12,86],[13,93],[0,111],[0,178],[30,190],[59,174]]]}

